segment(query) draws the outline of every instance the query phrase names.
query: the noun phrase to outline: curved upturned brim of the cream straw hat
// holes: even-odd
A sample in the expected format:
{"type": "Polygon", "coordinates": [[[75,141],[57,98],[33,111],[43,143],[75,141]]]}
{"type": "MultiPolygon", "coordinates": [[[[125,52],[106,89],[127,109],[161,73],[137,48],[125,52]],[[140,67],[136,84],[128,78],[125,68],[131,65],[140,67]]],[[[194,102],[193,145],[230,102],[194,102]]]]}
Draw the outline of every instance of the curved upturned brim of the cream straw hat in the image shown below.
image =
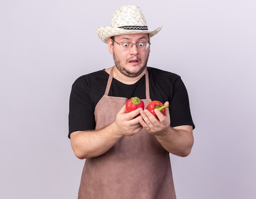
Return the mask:
{"type": "Polygon", "coordinates": [[[149,34],[149,37],[153,37],[156,35],[160,30],[162,29],[162,26],[155,29],[154,31],[148,31],[148,30],[127,30],[127,29],[121,29],[121,28],[112,28],[112,27],[99,27],[96,29],[96,33],[98,34],[99,38],[104,42],[108,43],[108,39],[112,36],[116,35],[127,35],[127,34],[149,34]]]}

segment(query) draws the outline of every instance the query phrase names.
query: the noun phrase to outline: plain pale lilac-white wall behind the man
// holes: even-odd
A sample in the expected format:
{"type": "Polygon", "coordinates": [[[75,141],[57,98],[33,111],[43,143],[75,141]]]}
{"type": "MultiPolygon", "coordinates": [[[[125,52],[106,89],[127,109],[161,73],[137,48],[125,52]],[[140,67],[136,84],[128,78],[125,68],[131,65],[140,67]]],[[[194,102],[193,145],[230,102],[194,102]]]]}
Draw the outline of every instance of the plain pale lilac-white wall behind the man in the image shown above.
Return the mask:
{"type": "Polygon", "coordinates": [[[68,134],[77,77],[113,66],[95,29],[124,4],[144,13],[148,66],[177,73],[195,144],[171,155],[177,199],[256,198],[254,0],[1,0],[0,198],[74,199],[84,160],[68,134]]]}

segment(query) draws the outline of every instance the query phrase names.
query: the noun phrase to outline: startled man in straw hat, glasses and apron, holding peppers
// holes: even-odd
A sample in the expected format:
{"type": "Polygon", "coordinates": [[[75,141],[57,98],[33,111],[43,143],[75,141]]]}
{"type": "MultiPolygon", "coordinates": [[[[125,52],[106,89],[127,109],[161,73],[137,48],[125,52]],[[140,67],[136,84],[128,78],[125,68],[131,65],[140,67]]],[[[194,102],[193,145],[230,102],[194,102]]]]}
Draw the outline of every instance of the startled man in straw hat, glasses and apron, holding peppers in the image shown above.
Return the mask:
{"type": "Polygon", "coordinates": [[[72,86],[69,137],[85,160],[79,199],[175,199],[169,153],[185,157],[193,146],[194,124],[186,88],[170,72],[147,67],[150,38],[137,6],[123,6],[111,27],[99,27],[115,66],[83,75],[72,86]],[[169,104],[165,115],[126,101],[139,97],[169,104]],[[138,117],[136,117],[139,115],[138,117]]]}

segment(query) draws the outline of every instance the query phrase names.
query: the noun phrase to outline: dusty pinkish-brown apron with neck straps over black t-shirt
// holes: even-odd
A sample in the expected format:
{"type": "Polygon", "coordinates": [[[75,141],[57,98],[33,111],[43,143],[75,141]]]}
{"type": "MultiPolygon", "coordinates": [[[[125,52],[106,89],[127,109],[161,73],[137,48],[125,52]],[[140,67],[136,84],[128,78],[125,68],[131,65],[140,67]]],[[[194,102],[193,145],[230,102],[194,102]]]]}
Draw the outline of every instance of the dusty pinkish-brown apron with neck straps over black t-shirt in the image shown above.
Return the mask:
{"type": "MultiPolygon", "coordinates": [[[[128,100],[108,96],[113,77],[95,111],[96,130],[115,121],[128,100]]],[[[146,71],[145,107],[151,102],[146,71]]],[[[122,137],[106,153],[85,160],[79,199],[175,199],[170,157],[154,135],[144,128],[122,137]]]]}

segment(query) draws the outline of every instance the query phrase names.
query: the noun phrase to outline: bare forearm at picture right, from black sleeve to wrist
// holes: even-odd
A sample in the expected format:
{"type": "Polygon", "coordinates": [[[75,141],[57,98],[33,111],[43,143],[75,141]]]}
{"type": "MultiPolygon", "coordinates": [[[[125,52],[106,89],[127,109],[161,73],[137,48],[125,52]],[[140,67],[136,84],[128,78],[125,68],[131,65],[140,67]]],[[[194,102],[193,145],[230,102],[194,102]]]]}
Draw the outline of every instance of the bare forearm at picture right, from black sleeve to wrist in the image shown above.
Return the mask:
{"type": "Polygon", "coordinates": [[[155,135],[160,144],[170,153],[181,157],[190,154],[194,138],[192,126],[177,126],[168,128],[160,135],[155,135]]]}

